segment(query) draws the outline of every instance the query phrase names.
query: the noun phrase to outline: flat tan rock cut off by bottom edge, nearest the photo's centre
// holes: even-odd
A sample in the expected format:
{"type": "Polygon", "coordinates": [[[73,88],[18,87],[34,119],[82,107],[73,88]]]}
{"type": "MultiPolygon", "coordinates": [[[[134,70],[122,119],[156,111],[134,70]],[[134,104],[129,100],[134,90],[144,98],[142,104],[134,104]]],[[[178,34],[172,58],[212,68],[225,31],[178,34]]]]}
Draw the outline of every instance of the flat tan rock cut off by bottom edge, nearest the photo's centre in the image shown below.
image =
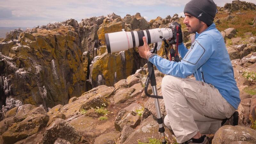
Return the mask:
{"type": "Polygon", "coordinates": [[[119,132],[108,132],[100,135],[95,139],[94,144],[116,144],[116,140],[120,137],[119,132]]]}

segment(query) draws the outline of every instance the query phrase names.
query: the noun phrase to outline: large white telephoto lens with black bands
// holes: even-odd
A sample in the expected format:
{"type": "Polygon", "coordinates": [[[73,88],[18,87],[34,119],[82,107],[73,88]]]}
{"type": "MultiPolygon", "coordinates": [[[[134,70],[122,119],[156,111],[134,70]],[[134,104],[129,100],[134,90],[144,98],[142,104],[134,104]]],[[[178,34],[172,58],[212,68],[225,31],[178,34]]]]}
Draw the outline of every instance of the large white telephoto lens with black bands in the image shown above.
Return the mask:
{"type": "Polygon", "coordinates": [[[120,32],[105,34],[108,53],[126,51],[130,48],[142,46],[144,44],[143,36],[146,37],[148,44],[157,43],[157,50],[159,50],[162,45],[161,36],[166,40],[171,40],[173,37],[171,28],[155,28],[131,32],[122,30],[120,32]]]}

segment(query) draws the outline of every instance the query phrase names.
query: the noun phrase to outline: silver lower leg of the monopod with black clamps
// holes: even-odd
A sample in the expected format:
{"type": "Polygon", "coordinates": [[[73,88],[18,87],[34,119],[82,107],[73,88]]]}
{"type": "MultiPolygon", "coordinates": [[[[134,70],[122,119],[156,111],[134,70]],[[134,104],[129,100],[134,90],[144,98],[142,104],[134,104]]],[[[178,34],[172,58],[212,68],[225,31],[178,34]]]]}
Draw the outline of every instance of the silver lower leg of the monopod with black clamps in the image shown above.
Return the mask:
{"type": "MultiPolygon", "coordinates": [[[[152,90],[153,90],[154,95],[157,95],[156,86],[152,86],[152,90]]],[[[162,144],[166,144],[166,140],[165,140],[165,136],[164,136],[164,121],[163,121],[163,117],[161,115],[159,101],[157,98],[154,98],[154,102],[155,102],[155,107],[156,107],[156,116],[157,116],[157,123],[159,125],[159,132],[162,137],[162,144]]]]}

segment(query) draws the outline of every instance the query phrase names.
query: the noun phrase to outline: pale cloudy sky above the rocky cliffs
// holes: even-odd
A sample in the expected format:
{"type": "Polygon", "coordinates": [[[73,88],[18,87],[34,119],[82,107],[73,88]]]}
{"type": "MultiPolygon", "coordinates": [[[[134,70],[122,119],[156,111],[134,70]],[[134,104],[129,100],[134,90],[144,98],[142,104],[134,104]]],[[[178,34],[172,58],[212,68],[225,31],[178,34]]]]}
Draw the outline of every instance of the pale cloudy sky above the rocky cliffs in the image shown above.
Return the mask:
{"type": "MultiPolygon", "coordinates": [[[[146,20],[177,13],[183,16],[185,4],[190,0],[0,0],[0,27],[36,27],[75,19],[115,13],[140,15],[146,20]]],[[[232,0],[214,0],[218,6],[232,0]]],[[[246,0],[256,4],[256,0],[246,0]]]]}

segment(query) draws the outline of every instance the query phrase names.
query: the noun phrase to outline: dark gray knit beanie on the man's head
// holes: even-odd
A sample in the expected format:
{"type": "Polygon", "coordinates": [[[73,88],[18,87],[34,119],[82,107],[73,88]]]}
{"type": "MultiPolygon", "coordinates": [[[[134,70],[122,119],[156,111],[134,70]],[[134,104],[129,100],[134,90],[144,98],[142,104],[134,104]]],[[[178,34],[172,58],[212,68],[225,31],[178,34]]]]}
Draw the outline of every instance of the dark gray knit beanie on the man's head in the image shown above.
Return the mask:
{"type": "Polygon", "coordinates": [[[185,5],[184,13],[189,13],[208,26],[213,23],[217,6],[213,0],[191,0],[185,5]]]}

